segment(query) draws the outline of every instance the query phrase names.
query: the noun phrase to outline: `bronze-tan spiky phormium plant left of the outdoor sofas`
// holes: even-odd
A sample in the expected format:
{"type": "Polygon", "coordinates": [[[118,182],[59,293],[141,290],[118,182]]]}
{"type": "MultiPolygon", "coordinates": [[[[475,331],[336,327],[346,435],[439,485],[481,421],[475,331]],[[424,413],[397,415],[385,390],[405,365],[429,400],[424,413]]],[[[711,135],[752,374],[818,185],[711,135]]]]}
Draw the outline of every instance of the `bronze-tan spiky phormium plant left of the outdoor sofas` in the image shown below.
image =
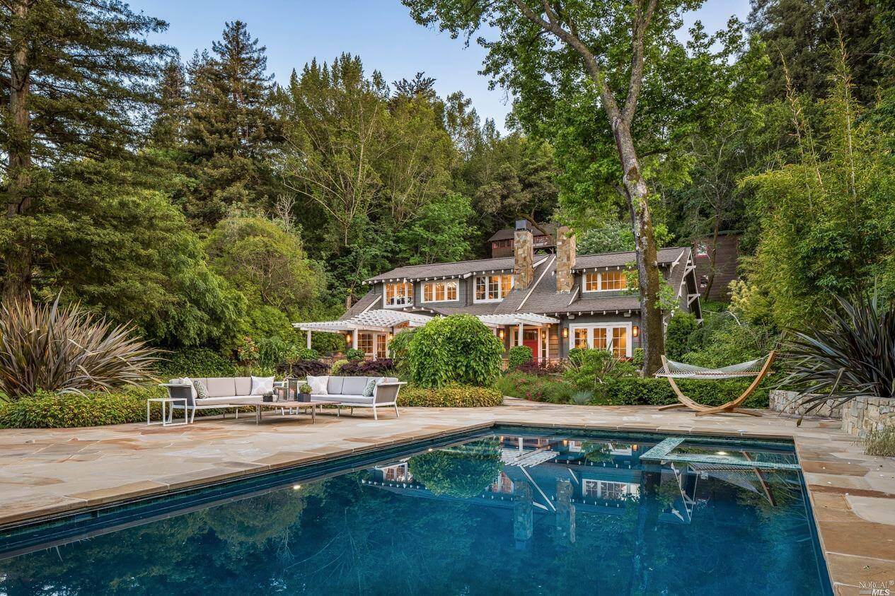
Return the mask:
{"type": "Polygon", "coordinates": [[[131,325],[113,325],[81,308],[34,303],[0,308],[0,391],[12,399],[38,389],[112,390],[151,379],[157,359],[131,325]]]}

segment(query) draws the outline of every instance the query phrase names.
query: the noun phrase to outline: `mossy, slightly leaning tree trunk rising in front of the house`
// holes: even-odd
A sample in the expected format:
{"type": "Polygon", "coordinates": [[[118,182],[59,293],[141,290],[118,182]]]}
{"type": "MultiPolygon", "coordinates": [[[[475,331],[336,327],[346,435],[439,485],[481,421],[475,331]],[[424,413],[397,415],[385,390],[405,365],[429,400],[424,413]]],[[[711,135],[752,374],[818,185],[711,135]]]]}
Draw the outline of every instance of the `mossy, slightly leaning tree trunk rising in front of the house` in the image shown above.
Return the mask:
{"type": "Polygon", "coordinates": [[[641,345],[644,346],[644,376],[652,376],[662,365],[665,353],[665,333],[659,308],[661,274],[657,263],[656,241],[652,234],[649,192],[640,174],[640,161],[634,148],[630,126],[620,119],[612,122],[621,160],[622,179],[631,210],[631,225],[637,255],[637,280],[640,285],[641,345]]]}

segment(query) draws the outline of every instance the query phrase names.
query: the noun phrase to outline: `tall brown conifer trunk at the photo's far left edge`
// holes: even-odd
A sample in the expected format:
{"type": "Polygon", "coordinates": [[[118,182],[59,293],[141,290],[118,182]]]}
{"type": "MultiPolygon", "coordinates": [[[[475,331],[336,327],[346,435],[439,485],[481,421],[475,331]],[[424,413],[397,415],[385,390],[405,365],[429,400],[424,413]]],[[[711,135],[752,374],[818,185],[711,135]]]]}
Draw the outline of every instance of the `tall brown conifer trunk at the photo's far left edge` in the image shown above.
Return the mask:
{"type": "MultiPolygon", "coordinates": [[[[13,49],[10,56],[9,119],[10,134],[6,141],[9,156],[7,176],[6,217],[20,217],[31,206],[31,132],[28,107],[30,66],[24,21],[28,18],[28,0],[13,4],[13,49]],[[18,31],[17,31],[18,30],[18,31]]],[[[27,294],[31,285],[31,249],[27,237],[19,237],[4,257],[4,298],[19,298],[27,294]]]]}

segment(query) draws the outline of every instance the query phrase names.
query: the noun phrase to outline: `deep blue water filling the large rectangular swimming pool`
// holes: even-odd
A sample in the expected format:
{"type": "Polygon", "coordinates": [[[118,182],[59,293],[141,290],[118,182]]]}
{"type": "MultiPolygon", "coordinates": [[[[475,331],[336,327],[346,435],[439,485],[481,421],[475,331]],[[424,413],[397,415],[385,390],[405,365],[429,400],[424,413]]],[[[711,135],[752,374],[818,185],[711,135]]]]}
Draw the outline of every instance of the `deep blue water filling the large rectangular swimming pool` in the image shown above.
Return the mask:
{"type": "Polygon", "coordinates": [[[831,593],[791,445],[662,439],[504,428],[9,529],[0,593],[831,593]]]}

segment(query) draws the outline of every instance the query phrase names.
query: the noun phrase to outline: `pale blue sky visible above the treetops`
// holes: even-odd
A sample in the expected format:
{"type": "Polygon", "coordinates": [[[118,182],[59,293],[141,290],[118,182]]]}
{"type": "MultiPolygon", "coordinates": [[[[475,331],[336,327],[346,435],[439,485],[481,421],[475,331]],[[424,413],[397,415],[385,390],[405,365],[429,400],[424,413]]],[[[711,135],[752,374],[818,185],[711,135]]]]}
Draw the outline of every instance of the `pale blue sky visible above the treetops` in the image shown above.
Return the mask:
{"type": "MultiPolygon", "coordinates": [[[[410,18],[398,0],[131,0],[134,11],[170,24],[158,41],[176,47],[184,60],[196,49],[210,48],[225,21],[240,19],[268,47],[268,69],[286,81],[293,68],[316,56],[329,62],[341,52],[360,55],[368,71],[378,69],[386,81],[412,78],[424,71],[434,77],[442,97],[462,89],[473,98],[482,117],[495,118],[503,128],[509,111],[502,89],[488,89],[478,74],[484,51],[460,39],[427,30],[410,18]]],[[[745,20],[749,0],[708,0],[699,18],[717,30],[731,14],[745,20]]]]}

